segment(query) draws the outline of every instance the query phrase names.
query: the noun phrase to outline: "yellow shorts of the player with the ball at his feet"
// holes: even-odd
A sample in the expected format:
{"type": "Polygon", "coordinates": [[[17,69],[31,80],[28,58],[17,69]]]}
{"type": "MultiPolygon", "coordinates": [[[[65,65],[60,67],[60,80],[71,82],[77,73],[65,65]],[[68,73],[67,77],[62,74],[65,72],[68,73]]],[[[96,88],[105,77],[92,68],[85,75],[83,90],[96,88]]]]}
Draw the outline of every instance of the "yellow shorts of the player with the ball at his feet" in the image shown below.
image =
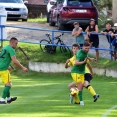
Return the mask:
{"type": "Polygon", "coordinates": [[[76,83],[82,82],[82,84],[84,84],[84,74],[71,73],[71,76],[74,82],[76,83]]]}

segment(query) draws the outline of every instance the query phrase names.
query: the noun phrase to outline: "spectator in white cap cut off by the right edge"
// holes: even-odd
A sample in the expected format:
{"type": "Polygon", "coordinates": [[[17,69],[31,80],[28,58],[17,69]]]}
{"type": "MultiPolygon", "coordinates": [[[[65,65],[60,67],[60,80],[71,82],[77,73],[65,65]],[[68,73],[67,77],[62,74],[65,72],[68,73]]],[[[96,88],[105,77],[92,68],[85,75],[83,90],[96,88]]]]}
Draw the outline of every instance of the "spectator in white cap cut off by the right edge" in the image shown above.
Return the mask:
{"type": "Polygon", "coordinates": [[[112,49],[113,49],[113,56],[114,60],[117,59],[117,23],[114,24],[114,33],[111,34],[111,37],[114,38],[112,41],[112,49]]]}

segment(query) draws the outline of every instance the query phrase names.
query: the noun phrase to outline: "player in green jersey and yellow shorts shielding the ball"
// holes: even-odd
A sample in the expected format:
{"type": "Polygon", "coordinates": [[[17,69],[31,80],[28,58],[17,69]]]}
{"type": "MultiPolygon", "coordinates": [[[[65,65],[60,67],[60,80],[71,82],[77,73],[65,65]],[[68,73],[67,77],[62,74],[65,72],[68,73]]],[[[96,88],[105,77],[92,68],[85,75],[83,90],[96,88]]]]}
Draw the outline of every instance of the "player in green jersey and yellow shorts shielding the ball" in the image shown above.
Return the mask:
{"type": "Polygon", "coordinates": [[[87,54],[90,49],[90,44],[88,42],[85,42],[83,44],[83,48],[79,50],[76,54],[76,61],[74,66],[71,70],[71,76],[74,80],[74,82],[78,86],[79,90],[79,99],[80,99],[80,105],[84,105],[83,99],[82,99],[82,89],[84,84],[84,74],[85,74],[85,65],[87,61],[87,54]]]}

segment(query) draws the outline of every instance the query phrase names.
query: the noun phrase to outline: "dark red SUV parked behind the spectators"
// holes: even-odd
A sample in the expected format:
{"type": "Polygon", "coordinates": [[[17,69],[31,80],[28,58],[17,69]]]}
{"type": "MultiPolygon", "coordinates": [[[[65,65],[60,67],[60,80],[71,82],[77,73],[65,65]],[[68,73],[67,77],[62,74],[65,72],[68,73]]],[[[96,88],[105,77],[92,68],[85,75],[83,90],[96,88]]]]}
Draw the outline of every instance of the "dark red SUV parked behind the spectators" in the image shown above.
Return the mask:
{"type": "Polygon", "coordinates": [[[92,0],[57,0],[49,11],[49,25],[64,29],[65,25],[79,22],[80,26],[87,26],[91,18],[98,23],[98,12],[92,0]]]}

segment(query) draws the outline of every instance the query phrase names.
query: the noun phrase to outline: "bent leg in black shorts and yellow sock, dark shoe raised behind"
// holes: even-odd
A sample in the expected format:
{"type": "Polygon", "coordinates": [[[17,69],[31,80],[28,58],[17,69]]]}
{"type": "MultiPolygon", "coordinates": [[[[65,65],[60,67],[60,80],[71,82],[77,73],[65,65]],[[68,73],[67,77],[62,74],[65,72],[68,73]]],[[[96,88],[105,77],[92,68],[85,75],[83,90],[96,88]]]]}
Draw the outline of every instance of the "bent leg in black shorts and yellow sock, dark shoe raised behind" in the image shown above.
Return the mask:
{"type": "Polygon", "coordinates": [[[89,73],[85,74],[85,82],[84,82],[84,87],[88,89],[88,91],[93,95],[94,102],[97,101],[99,98],[99,94],[96,94],[94,88],[90,85],[90,80],[92,79],[92,75],[89,73]]]}

